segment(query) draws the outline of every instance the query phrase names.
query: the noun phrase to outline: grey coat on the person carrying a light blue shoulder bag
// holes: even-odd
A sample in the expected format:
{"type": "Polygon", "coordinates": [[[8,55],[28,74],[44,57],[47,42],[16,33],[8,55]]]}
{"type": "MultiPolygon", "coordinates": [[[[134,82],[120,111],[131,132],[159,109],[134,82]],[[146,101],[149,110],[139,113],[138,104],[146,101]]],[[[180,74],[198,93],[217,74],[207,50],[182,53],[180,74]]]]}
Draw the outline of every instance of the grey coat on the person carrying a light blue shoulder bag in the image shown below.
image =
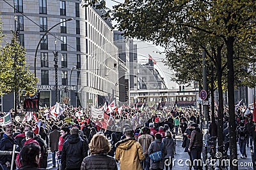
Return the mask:
{"type": "MultiPolygon", "coordinates": [[[[156,141],[152,142],[148,148],[148,154],[158,152],[161,150],[161,140],[156,139],[156,141]]],[[[162,147],[162,158],[164,158],[167,155],[166,146],[163,143],[162,147]]],[[[150,169],[164,169],[164,159],[162,159],[159,162],[153,162],[150,159],[150,169]]]]}

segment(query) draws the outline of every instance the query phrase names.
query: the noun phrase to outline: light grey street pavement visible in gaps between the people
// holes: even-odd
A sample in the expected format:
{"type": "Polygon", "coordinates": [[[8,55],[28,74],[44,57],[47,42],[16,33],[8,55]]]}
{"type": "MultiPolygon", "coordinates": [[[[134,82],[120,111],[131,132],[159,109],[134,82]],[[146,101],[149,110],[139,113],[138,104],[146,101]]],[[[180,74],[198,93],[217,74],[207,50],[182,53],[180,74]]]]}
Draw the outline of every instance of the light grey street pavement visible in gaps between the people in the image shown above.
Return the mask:
{"type": "MultiPolygon", "coordinates": [[[[186,166],[186,163],[188,163],[188,162],[186,162],[186,160],[189,160],[189,155],[188,155],[188,153],[184,152],[184,148],[181,147],[182,136],[178,135],[178,136],[176,136],[176,139],[177,139],[176,154],[174,155],[172,170],[189,169],[188,166],[186,166]]],[[[237,153],[239,153],[239,145],[237,145],[237,153]]],[[[239,155],[237,155],[239,170],[248,170],[248,169],[253,170],[250,147],[246,146],[246,154],[247,154],[246,159],[240,159],[239,155]]],[[[47,169],[50,169],[51,167],[52,167],[52,154],[49,151],[47,169]]],[[[118,169],[120,169],[119,164],[118,164],[118,169]]],[[[204,169],[205,169],[205,167],[204,167],[204,169]]]]}

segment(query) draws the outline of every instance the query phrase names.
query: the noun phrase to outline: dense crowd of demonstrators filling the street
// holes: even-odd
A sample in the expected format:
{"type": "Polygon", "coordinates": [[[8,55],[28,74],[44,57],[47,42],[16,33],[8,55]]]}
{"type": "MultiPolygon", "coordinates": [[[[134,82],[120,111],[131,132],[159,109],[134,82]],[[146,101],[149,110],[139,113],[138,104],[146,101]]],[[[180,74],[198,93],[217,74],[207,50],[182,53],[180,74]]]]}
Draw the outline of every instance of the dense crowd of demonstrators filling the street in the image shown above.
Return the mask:
{"type": "MultiPolygon", "coordinates": [[[[241,110],[237,110],[237,138],[241,144],[241,157],[246,157],[244,143],[246,145],[249,139],[252,145],[252,139],[250,132],[244,131],[243,127],[253,129],[252,113],[243,115],[241,110]],[[243,140],[242,134],[247,135],[243,140]]],[[[175,136],[178,134],[182,136],[182,147],[188,152],[191,162],[201,159],[203,134],[198,127],[198,110],[175,107],[141,111],[129,108],[122,114],[127,118],[109,115],[108,119],[99,120],[90,116],[90,110],[67,106],[63,114],[54,119],[41,110],[36,113],[38,120],[42,121],[38,134],[34,128],[35,119],[24,121],[24,124],[13,120],[12,124],[0,129],[0,169],[10,169],[12,154],[15,154],[17,169],[45,169],[49,149],[52,167],[60,169],[117,169],[116,162],[119,162],[120,169],[167,170],[172,169],[175,136]],[[143,117],[145,121],[137,121],[141,119],[134,117],[143,117]],[[17,153],[12,153],[13,145],[16,145],[17,153]],[[156,152],[161,152],[160,160],[152,159],[156,152]]],[[[227,127],[225,122],[223,135],[228,149],[227,127]]],[[[200,164],[191,164],[189,169],[192,166],[202,169],[200,164]]]]}

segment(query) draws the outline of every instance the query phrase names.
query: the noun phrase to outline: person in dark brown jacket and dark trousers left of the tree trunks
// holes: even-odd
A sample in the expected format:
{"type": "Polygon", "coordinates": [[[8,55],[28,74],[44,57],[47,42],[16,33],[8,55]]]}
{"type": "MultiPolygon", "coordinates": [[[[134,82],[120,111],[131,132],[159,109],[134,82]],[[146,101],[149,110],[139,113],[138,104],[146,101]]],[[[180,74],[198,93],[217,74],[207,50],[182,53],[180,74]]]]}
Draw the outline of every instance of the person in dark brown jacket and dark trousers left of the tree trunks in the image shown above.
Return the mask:
{"type": "Polygon", "coordinates": [[[188,151],[191,152],[194,169],[199,170],[202,169],[201,153],[203,148],[203,134],[196,123],[193,123],[191,127],[193,131],[191,132],[188,151]]]}

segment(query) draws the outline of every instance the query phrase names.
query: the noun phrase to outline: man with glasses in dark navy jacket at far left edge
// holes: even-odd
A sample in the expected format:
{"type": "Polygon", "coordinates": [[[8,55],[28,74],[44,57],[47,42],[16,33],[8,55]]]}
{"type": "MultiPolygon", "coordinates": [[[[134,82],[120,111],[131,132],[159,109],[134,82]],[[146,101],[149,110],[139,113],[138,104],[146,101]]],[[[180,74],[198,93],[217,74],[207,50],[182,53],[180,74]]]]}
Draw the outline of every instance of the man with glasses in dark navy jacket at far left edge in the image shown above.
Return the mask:
{"type": "MultiPolygon", "coordinates": [[[[0,150],[1,151],[13,151],[13,145],[17,145],[15,139],[13,138],[13,127],[8,125],[4,127],[5,133],[3,138],[0,140],[0,150]]],[[[18,151],[18,150],[16,150],[18,151]]],[[[11,168],[12,155],[1,155],[0,164],[3,170],[9,170],[11,168]]],[[[15,167],[14,167],[15,169],[15,167]]]]}

